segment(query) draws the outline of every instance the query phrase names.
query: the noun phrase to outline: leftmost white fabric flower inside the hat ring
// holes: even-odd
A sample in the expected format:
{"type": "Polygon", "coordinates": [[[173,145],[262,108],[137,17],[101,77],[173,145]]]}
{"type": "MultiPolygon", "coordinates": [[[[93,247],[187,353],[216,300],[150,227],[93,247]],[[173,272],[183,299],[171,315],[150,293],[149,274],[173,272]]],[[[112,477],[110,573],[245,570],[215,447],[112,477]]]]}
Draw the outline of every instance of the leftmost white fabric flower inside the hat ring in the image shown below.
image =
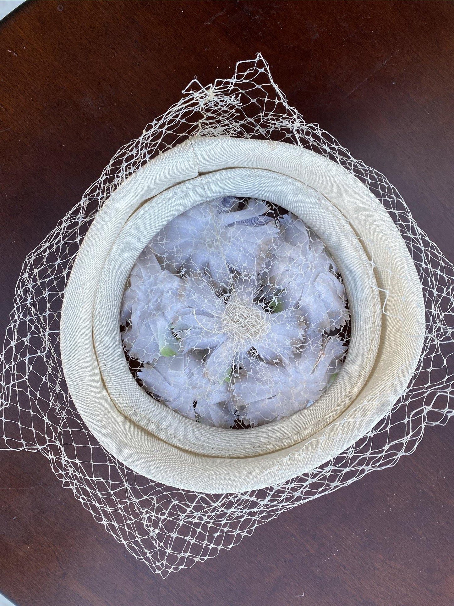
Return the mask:
{"type": "Polygon", "coordinates": [[[131,357],[147,363],[180,350],[172,322],[184,307],[184,287],[179,276],[160,267],[150,247],[143,250],[122,303],[122,339],[131,357]]]}

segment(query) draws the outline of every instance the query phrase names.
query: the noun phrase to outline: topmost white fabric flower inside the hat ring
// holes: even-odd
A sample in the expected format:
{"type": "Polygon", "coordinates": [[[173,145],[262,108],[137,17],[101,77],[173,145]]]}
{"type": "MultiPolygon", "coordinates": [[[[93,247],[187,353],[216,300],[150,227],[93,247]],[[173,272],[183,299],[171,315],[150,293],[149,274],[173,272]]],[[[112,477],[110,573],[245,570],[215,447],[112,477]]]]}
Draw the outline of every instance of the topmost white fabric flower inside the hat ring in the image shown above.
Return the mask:
{"type": "Polygon", "coordinates": [[[265,202],[219,198],[190,208],[170,221],[153,241],[151,250],[166,268],[206,272],[216,288],[228,288],[231,270],[257,273],[272,247],[278,228],[266,216],[265,202]]]}

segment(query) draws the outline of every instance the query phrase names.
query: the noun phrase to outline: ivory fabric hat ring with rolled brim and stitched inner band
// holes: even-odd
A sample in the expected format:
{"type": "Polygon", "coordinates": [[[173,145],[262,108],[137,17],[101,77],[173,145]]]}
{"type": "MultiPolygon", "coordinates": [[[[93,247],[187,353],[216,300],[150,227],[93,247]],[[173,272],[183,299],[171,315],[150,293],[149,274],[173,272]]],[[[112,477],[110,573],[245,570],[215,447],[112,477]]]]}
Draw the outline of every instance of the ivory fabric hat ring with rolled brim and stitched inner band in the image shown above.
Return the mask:
{"type": "Polygon", "coordinates": [[[208,493],[277,484],[345,450],[401,395],[423,337],[418,275],[372,193],[309,150],[223,137],[189,139],[157,156],[105,202],[74,262],[61,320],[68,389],[100,444],[148,478],[208,493]],[[275,202],[306,221],[340,268],[352,315],[347,358],[326,393],[289,418],[239,431],[155,402],[130,373],[119,326],[143,247],[174,216],[222,195],[275,202]]]}

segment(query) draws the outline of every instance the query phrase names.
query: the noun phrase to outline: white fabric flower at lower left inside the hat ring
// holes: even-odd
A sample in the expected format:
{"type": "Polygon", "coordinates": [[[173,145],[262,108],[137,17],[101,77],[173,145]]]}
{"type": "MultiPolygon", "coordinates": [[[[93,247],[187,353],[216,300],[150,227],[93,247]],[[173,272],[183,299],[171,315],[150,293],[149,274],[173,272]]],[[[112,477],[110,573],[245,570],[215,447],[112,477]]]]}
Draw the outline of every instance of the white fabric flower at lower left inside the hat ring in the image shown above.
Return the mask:
{"type": "Polygon", "coordinates": [[[202,356],[196,353],[158,358],[140,368],[137,377],[146,391],[180,415],[215,427],[232,427],[235,422],[228,384],[206,378],[202,356]]]}

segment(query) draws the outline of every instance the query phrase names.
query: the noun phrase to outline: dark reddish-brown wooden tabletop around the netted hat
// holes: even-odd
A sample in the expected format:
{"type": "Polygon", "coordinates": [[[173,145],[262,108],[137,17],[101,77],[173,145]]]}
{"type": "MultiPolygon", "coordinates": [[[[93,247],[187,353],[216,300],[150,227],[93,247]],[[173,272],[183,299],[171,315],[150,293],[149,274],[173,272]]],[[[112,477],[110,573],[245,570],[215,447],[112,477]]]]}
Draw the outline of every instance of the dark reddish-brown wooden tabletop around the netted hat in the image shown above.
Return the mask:
{"type": "MultiPolygon", "coordinates": [[[[383,171],[454,259],[454,4],[29,0],[0,24],[0,328],[21,263],[120,145],[262,52],[308,121],[383,171]]],[[[396,467],[163,580],[39,454],[0,452],[0,591],[19,606],[454,604],[454,424],[396,467]]]]}

